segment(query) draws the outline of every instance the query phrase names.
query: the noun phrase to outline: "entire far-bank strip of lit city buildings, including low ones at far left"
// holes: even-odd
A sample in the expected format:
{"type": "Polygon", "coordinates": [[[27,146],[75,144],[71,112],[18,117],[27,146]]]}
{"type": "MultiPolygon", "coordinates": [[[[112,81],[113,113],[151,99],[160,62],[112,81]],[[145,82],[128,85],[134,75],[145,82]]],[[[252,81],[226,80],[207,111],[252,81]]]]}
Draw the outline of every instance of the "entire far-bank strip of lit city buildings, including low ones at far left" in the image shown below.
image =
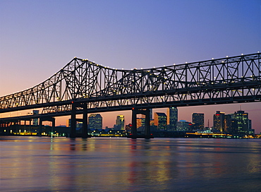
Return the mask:
{"type": "MultiPolygon", "coordinates": [[[[39,111],[34,110],[30,114],[39,114],[39,111]]],[[[233,114],[225,114],[217,111],[213,114],[210,127],[210,120],[205,126],[205,114],[193,113],[192,122],[186,120],[178,121],[177,107],[169,107],[166,114],[164,112],[154,112],[152,119],[152,109],[150,109],[150,131],[157,133],[158,136],[205,136],[205,137],[226,137],[226,138],[243,138],[244,136],[253,136],[255,130],[252,129],[251,120],[248,119],[248,112],[239,110],[233,114]],[[164,135],[161,135],[164,134],[164,135]],[[228,136],[230,135],[230,136],[228,136]]],[[[140,114],[137,117],[137,131],[145,132],[145,115],[140,114]]],[[[10,126],[10,130],[4,129],[4,133],[16,134],[37,134],[38,119],[33,119],[32,124],[25,125],[23,128],[18,128],[16,124],[10,126]]],[[[66,126],[57,126],[55,129],[51,126],[43,127],[43,135],[57,135],[58,133],[68,134],[71,127],[71,119],[68,119],[66,126]]],[[[83,121],[76,120],[76,132],[81,133],[83,121]]],[[[103,126],[101,114],[90,114],[87,118],[88,133],[92,136],[126,136],[131,132],[132,124],[126,124],[125,116],[119,114],[116,116],[115,124],[111,128],[103,126]]],[[[157,135],[156,134],[156,135],[157,135]]]]}

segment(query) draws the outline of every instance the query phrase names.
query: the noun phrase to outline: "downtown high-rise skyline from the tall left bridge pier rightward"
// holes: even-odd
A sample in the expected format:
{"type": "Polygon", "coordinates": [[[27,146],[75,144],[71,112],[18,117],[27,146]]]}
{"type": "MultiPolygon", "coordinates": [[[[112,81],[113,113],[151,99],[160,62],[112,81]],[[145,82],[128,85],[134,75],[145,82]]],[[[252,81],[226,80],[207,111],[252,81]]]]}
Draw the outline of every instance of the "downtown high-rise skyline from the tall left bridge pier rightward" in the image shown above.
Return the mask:
{"type": "MultiPolygon", "coordinates": [[[[154,112],[154,119],[152,119],[152,109],[150,109],[150,128],[152,131],[205,131],[212,130],[215,133],[230,133],[237,135],[254,134],[255,130],[251,128],[251,120],[248,119],[248,113],[244,111],[237,111],[233,114],[225,114],[217,111],[213,115],[213,126],[205,126],[205,114],[193,113],[192,122],[186,120],[178,121],[177,107],[169,107],[167,114],[163,112],[154,112]]],[[[68,120],[68,126],[70,126],[68,120]]],[[[131,130],[131,124],[125,124],[125,117],[122,114],[116,116],[116,122],[111,130],[131,130]]],[[[83,127],[83,122],[77,122],[76,129],[83,127]]],[[[88,128],[102,129],[102,115],[90,114],[88,117],[88,128]]],[[[108,127],[105,126],[105,129],[108,127]]],[[[144,131],[145,115],[137,118],[138,131],[144,131]]]]}

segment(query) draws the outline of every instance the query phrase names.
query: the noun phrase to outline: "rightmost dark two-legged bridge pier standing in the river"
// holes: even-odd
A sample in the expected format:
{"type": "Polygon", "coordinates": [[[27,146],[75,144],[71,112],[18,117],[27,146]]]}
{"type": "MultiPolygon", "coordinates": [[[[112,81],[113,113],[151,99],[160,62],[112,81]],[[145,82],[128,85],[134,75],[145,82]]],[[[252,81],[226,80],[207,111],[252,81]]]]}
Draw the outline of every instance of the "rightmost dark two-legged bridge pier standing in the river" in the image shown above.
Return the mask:
{"type": "Polygon", "coordinates": [[[150,134],[150,109],[135,109],[132,110],[132,127],[129,138],[153,138],[150,134]],[[137,133],[137,114],[145,115],[145,135],[138,136],[137,133]]]}

